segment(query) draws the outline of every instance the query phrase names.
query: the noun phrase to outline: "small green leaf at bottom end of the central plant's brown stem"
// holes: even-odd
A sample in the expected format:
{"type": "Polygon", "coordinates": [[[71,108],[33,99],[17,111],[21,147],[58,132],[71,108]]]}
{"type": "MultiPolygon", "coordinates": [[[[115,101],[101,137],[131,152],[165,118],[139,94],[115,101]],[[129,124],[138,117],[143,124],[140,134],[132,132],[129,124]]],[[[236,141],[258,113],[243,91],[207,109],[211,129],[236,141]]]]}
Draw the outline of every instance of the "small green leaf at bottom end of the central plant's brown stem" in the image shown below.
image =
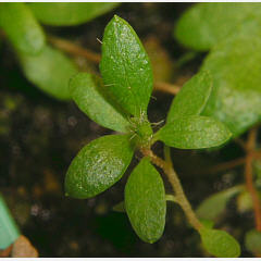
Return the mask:
{"type": "Polygon", "coordinates": [[[237,258],[240,246],[237,240],[224,231],[200,229],[200,236],[206,250],[216,258],[237,258]]]}

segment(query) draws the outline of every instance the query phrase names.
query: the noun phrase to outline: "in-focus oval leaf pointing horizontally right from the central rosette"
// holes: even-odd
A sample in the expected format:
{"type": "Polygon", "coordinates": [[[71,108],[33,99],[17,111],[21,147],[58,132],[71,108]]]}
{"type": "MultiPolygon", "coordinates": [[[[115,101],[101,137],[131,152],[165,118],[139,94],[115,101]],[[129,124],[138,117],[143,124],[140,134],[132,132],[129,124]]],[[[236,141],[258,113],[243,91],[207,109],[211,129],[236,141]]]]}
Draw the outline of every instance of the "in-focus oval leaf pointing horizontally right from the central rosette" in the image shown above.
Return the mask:
{"type": "Polygon", "coordinates": [[[220,146],[231,138],[228,128],[207,116],[175,117],[166,123],[156,137],[178,149],[203,149],[220,146]]]}

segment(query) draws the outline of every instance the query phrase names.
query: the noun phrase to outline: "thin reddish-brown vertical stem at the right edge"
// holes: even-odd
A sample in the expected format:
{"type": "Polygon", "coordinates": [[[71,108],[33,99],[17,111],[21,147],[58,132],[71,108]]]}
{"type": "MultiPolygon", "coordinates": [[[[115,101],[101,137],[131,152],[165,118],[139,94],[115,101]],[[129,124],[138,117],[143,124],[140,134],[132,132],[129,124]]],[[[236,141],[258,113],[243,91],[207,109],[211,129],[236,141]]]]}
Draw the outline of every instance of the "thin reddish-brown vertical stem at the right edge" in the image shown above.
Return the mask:
{"type": "Polygon", "coordinates": [[[260,206],[258,191],[253,185],[253,177],[252,177],[252,161],[254,158],[253,150],[254,150],[254,145],[257,139],[257,132],[258,132],[258,128],[253,127],[250,129],[248,135],[245,178],[246,178],[247,189],[250,192],[252,202],[253,202],[256,229],[261,232],[261,206],[260,206]]]}

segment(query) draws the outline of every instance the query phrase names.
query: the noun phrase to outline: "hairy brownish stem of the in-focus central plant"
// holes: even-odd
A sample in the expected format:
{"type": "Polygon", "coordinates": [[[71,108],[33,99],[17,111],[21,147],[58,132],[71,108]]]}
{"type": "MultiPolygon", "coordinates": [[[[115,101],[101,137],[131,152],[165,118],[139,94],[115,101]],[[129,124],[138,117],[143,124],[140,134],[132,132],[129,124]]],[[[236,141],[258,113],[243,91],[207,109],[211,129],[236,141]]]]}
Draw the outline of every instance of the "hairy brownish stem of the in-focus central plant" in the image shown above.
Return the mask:
{"type": "Polygon", "coordinates": [[[175,198],[178,204],[182,207],[183,211],[185,212],[189,223],[194,226],[195,229],[200,232],[202,228],[202,224],[196,216],[189,201],[186,198],[186,195],[183,191],[182,184],[176,172],[173,169],[173,164],[170,157],[170,148],[165,147],[165,161],[156,156],[150,149],[141,149],[141,152],[145,157],[149,157],[151,162],[161,167],[165,175],[167,176],[169,182],[172,185],[172,188],[175,192],[175,198]]]}

